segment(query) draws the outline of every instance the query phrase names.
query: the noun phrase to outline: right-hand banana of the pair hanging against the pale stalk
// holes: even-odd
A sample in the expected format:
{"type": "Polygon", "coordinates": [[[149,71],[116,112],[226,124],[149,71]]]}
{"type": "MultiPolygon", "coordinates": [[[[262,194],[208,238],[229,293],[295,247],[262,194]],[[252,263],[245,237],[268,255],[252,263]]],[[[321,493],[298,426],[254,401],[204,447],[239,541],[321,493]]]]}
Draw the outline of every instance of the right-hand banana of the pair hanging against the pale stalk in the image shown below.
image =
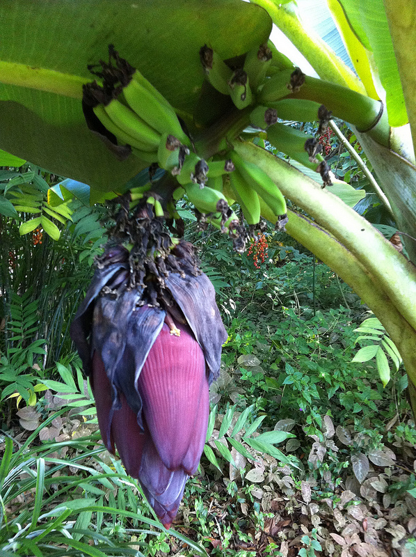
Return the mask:
{"type": "MultiPolygon", "coordinates": [[[[234,144],[234,151],[231,152],[231,159],[234,162],[236,171],[238,171],[248,187],[254,190],[259,197],[269,205],[273,214],[279,216],[287,212],[286,201],[282,196],[282,192],[275,185],[275,182],[261,168],[253,163],[246,162],[237,152],[239,146],[234,144]]],[[[232,180],[233,174],[230,176],[232,180]]],[[[232,184],[232,182],[231,182],[232,184]]]]}

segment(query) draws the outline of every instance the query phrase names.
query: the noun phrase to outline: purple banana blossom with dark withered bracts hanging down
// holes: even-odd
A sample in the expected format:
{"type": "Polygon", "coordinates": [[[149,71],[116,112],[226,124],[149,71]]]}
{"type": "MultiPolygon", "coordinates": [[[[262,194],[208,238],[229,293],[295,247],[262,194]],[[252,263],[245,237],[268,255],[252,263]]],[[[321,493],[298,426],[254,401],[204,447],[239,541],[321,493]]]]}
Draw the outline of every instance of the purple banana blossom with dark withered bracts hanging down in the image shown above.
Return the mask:
{"type": "Polygon", "coordinates": [[[209,278],[182,265],[189,246],[170,250],[175,260],[162,279],[156,275],[163,285],[156,304],[148,294],[155,276],[131,281],[129,251],[107,250],[71,326],[104,444],[113,454],[117,448],[166,528],[198,468],[209,384],[227,338],[209,278]]]}

